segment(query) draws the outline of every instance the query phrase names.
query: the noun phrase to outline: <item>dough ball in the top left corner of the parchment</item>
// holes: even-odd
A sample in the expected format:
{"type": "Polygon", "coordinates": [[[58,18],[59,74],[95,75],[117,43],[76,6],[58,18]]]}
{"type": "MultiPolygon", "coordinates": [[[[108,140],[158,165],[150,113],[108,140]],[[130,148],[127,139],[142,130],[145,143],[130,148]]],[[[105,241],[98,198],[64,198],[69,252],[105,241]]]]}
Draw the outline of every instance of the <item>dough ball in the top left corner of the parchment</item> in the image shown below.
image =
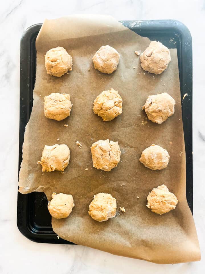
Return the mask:
{"type": "Polygon", "coordinates": [[[73,58],[62,47],[50,49],[45,55],[45,66],[48,74],[61,77],[72,70],[73,58]]]}

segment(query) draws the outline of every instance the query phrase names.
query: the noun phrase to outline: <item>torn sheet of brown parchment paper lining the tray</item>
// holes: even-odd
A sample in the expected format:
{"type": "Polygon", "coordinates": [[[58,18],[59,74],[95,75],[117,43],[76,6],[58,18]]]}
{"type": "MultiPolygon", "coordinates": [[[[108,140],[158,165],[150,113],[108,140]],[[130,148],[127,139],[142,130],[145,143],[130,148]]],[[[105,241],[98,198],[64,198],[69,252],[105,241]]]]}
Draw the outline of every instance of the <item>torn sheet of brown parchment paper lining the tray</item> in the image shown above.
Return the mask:
{"type": "Polygon", "coordinates": [[[149,43],[148,38],[140,37],[108,16],[75,15],[44,22],[36,40],[33,110],[26,126],[19,191],[23,194],[43,191],[48,200],[52,192],[73,195],[75,207],[71,215],[52,219],[54,231],[63,239],[155,263],[197,261],[200,260],[198,239],[186,202],[177,51],[170,50],[172,60],[165,72],[149,74],[142,70],[140,57],[134,54],[136,50],[144,51],[149,43]],[[102,45],[110,45],[120,53],[118,68],[111,75],[93,68],[91,58],[102,45]],[[46,51],[58,46],[73,57],[73,71],[61,78],[46,74],[44,65],[46,51]],[[123,113],[103,122],[92,111],[93,100],[110,88],[122,96],[123,113]],[[71,116],[60,122],[44,116],[44,96],[52,92],[71,95],[71,116]],[[148,95],[161,92],[173,96],[176,105],[175,114],[158,125],[147,120],[142,106],[148,95]],[[120,162],[110,172],[92,167],[90,147],[100,139],[119,142],[120,162]],[[76,141],[81,142],[81,149],[75,145],[76,141]],[[64,174],[55,171],[42,175],[37,161],[45,144],[56,143],[69,146],[69,166],[64,174]],[[142,150],[151,144],[169,152],[166,169],[152,171],[140,164],[142,150]],[[160,216],[146,207],[146,198],[161,184],[177,196],[179,203],[175,210],[160,216]],[[102,223],[88,215],[93,195],[99,192],[110,193],[117,200],[116,217],[102,223]],[[119,211],[120,206],[125,207],[125,213],[119,211]]]}

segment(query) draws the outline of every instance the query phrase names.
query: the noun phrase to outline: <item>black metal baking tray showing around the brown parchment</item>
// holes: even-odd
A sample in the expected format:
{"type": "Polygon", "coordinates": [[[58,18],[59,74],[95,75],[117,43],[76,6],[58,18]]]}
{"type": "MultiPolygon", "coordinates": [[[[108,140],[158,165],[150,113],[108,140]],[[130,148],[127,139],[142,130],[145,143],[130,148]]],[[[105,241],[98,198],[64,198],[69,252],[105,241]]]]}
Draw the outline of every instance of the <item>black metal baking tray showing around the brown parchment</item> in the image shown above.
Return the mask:
{"type": "MultiPolygon", "coordinates": [[[[188,96],[182,103],[182,117],[186,149],[186,198],[193,214],[193,172],[192,172],[192,38],[183,23],[175,20],[120,21],[141,36],[156,40],[168,48],[177,49],[181,98],[188,96]]],[[[19,126],[19,170],[22,162],[22,145],[25,126],[33,106],[33,89],[36,78],[35,41],[42,24],[36,24],[23,33],[20,42],[20,126],[19,126]]],[[[41,243],[73,244],[58,239],[52,230],[51,216],[47,209],[44,193],[18,192],[17,226],[28,239],[41,243]]]]}

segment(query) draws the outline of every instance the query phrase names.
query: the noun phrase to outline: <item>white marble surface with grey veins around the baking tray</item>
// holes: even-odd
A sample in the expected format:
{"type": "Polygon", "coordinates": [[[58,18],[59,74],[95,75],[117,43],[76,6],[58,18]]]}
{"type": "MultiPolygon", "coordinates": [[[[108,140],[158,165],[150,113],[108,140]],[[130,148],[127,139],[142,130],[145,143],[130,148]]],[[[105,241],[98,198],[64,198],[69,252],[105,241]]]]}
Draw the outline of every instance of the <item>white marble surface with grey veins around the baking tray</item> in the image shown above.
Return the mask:
{"type": "Polygon", "coordinates": [[[204,273],[205,270],[205,127],[203,0],[73,0],[1,1],[0,8],[0,273],[204,273]],[[34,243],[16,225],[19,149],[19,51],[23,31],[45,18],[71,13],[104,13],[118,20],[177,19],[193,39],[194,220],[202,260],[157,265],[118,257],[83,246],[34,243]],[[3,187],[7,185],[7,190],[3,187]]]}

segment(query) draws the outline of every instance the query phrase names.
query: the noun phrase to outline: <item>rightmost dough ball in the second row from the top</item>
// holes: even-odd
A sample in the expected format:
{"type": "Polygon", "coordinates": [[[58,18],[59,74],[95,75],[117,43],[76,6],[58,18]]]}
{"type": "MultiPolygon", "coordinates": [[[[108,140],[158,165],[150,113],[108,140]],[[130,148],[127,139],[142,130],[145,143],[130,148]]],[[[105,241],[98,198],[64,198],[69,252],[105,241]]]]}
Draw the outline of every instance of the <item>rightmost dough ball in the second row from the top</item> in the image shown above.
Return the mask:
{"type": "Polygon", "coordinates": [[[153,123],[161,124],[174,114],[175,100],[167,93],[148,96],[142,109],[153,123]]]}

